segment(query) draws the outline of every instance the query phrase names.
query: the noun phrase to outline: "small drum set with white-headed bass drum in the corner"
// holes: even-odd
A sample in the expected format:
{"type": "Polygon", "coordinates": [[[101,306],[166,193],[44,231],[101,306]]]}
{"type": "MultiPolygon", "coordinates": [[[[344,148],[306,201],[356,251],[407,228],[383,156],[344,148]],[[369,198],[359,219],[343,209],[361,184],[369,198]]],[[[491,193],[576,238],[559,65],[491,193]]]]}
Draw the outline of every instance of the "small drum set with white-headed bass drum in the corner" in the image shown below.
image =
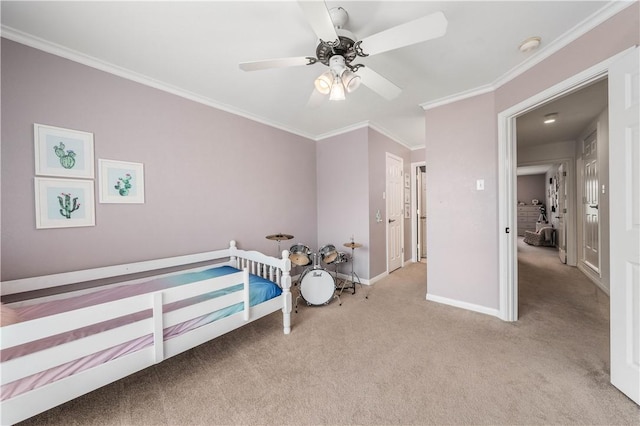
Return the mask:
{"type": "Polygon", "coordinates": [[[295,285],[299,286],[300,294],[296,298],[296,312],[298,312],[298,300],[300,298],[307,302],[307,305],[326,305],[331,299],[338,299],[342,305],[340,295],[345,289],[353,289],[356,292],[356,281],[360,283],[360,278],[353,271],[353,250],[362,247],[358,243],[345,243],[351,247],[351,256],[348,253],[336,250],[333,244],[322,246],[317,253],[304,244],[294,244],[289,249],[289,260],[297,266],[305,267],[295,285]],[[353,247],[351,244],[355,244],[353,247]],[[338,268],[344,263],[351,262],[351,280],[339,279],[338,268]],[[333,265],[333,274],[324,267],[333,265]]]}

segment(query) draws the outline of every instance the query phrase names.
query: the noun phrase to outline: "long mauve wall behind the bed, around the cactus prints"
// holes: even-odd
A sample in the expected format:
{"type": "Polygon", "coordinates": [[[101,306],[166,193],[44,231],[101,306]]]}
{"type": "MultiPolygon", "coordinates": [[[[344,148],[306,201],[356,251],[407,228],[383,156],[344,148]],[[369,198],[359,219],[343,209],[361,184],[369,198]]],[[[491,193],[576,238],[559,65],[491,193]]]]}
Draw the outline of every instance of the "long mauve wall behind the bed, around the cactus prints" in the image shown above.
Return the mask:
{"type": "Polygon", "coordinates": [[[2,280],[230,239],[275,254],[277,232],[316,245],[313,141],[5,39],[1,107],[2,280]],[[36,230],[33,123],[94,133],[96,167],[144,163],[145,204],[99,204],[96,176],[95,227],[36,230]]]}

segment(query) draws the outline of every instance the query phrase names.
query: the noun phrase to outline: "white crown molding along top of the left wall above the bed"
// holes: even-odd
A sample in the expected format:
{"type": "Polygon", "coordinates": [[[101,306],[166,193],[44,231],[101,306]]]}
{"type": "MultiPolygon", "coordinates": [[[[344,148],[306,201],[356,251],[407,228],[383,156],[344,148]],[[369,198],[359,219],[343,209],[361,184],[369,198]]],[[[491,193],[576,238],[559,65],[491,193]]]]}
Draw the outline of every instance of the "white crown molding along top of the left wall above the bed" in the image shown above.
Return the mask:
{"type": "Polygon", "coordinates": [[[179,96],[181,98],[188,99],[193,102],[197,102],[215,109],[219,109],[221,111],[225,111],[230,114],[238,115],[248,120],[267,125],[269,127],[283,130],[285,132],[292,133],[307,139],[311,139],[311,140],[315,139],[314,135],[311,135],[306,132],[301,132],[299,129],[294,129],[289,126],[285,126],[281,123],[277,123],[271,120],[266,120],[260,116],[254,115],[242,109],[235,108],[230,105],[214,101],[213,99],[207,98],[205,96],[200,96],[198,94],[182,89],[180,87],[161,82],[147,75],[133,72],[129,69],[119,67],[109,62],[102,61],[93,56],[85,55],[83,53],[61,46],[59,44],[52,43],[50,41],[41,39],[39,37],[35,37],[30,34],[24,33],[22,31],[16,30],[9,26],[2,25],[0,27],[0,30],[1,30],[0,35],[3,38],[15,41],[20,44],[24,44],[29,47],[33,47],[34,49],[42,50],[43,52],[50,53],[52,55],[59,56],[64,59],[68,59],[70,61],[77,62],[82,65],[86,65],[88,67],[91,67],[100,71],[104,71],[106,73],[116,75],[118,77],[122,77],[127,80],[131,80],[148,87],[152,87],[154,89],[162,90],[163,92],[167,92],[172,95],[179,96]]]}

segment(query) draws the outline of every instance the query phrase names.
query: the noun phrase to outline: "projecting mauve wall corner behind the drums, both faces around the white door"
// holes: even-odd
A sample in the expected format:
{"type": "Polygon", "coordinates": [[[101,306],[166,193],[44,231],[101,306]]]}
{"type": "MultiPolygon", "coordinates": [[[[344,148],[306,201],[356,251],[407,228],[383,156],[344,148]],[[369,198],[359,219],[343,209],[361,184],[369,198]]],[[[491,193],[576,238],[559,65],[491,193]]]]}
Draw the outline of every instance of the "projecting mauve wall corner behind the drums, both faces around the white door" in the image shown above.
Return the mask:
{"type": "MultiPolygon", "coordinates": [[[[379,209],[385,218],[385,161],[390,152],[410,170],[411,151],[381,133],[363,127],[317,143],[318,243],[343,244],[353,235],[363,247],[354,251],[355,272],[360,278],[376,278],[387,270],[385,222],[376,222],[379,209]]],[[[411,227],[405,221],[405,260],[411,258],[411,227]]],[[[343,272],[348,272],[345,265],[343,272]]]]}

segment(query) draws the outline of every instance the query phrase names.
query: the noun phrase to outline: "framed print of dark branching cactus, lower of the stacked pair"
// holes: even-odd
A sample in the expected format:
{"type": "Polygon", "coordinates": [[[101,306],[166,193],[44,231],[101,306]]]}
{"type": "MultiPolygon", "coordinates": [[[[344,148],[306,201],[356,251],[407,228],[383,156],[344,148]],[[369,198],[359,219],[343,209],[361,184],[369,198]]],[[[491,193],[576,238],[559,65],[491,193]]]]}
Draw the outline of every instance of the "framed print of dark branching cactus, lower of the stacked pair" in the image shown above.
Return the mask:
{"type": "Polygon", "coordinates": [[[35,178],[36,228],[95,226],[92,180],[35,178]]]}

